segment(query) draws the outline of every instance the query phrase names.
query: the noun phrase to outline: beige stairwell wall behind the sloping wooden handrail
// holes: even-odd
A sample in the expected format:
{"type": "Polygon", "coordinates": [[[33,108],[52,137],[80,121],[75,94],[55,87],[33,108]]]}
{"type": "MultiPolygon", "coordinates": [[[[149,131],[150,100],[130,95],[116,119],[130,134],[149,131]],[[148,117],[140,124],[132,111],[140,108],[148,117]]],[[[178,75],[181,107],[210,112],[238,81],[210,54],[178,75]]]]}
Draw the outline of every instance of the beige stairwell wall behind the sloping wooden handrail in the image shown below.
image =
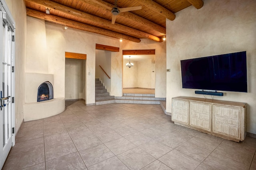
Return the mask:
{"type": "Polygon", "coordinates": [[[110,92],[111,89],[111,53],[111,51],[106,50],[96,50],[95,53],[95,77],[102,80],[102,83],[104,83],[104,86],[106,86],[108,92],[110,92]],[[102,71],[99,65],[104,69],[108,76],[110,76],[110,78],[106,76],[106,74],[102,71]]]}

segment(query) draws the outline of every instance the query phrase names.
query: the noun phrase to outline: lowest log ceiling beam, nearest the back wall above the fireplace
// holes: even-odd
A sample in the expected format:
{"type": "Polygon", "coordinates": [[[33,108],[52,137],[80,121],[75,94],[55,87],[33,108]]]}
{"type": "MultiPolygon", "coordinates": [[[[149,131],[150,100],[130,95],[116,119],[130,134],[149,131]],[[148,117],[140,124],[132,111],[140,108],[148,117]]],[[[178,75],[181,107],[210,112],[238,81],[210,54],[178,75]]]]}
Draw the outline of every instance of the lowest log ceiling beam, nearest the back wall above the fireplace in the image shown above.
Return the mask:
{"type": "Polygon", "coordinates": [[[31,9],[28,9],[28,8],[27,8],[27,16],[32,16],[32,17],[35,17],[35,18],[40,18],[40,19],[43,19],[43,20],[52,21],[52,22],[55,22],[55,23],[66,25],[70,28],[75,28],[75,29],[79,29],[79,30],[82,30],[82,31],[97,33],[97,34],[105,35],[105,36],[108,36],[108,37],[113,37],[113,38],[118,38],[118,39],[126,39],[126,40],[133,41],[133,42],[136,42],[136,43],[140,42],[140,39],[138,39],[138,38],[134,38],[134,37],[131,37],[131,36],[128,36],[128,35],[116,33],[116,32],[113,32],[113,31],[108,31],[106,29],[94,27],[92,25],[88,25],[88,24],[85,24],[85,23],[80,23],[80,22],[68,20],[66,18],[61,18],[61,17],[58,17],[58,16],[45,14],[44,12],[38,12],[36,10],[31,10],[31,9]]]}

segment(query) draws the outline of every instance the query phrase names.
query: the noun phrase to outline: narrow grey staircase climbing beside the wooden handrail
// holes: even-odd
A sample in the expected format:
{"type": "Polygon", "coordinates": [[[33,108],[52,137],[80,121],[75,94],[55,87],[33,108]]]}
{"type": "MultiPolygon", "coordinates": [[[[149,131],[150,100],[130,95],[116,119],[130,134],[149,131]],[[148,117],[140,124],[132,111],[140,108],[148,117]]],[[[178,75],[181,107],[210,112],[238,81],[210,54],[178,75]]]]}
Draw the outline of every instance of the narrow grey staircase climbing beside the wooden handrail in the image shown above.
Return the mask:
{"type": "Polygon", "coordinates": [[[99,78],[95,78],[95,105],[115,103],[114,96],[110,96],[99,78]]]}

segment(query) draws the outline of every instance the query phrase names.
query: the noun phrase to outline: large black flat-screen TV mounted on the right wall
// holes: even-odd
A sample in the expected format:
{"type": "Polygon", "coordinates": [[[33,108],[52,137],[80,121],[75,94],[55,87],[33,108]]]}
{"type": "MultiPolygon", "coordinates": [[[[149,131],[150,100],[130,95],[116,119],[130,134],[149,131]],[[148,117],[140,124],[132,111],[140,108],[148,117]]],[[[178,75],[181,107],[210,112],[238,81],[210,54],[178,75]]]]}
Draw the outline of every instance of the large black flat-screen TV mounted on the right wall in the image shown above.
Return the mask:
{"type": "Polygon", "coordinates": [[[246,51],[181,60],[182,88],[247,92],[246,51]]]}

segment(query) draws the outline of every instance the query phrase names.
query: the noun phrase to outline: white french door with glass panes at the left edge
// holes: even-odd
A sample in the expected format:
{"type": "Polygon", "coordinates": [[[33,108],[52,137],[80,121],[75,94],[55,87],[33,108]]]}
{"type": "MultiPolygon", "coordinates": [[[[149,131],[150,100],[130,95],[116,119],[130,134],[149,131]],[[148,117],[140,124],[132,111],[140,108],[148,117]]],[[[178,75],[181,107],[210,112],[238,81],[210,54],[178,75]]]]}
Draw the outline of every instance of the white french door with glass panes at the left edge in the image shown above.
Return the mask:
{"type": "MultiPolygon", "coordinates": [[[[2,4],[0,4],[2,7],[2,4]]],[[[4,8],[0,9],[0,168],[14,145],[12,97],[14,65],[14,26],[4,8]]]]}

